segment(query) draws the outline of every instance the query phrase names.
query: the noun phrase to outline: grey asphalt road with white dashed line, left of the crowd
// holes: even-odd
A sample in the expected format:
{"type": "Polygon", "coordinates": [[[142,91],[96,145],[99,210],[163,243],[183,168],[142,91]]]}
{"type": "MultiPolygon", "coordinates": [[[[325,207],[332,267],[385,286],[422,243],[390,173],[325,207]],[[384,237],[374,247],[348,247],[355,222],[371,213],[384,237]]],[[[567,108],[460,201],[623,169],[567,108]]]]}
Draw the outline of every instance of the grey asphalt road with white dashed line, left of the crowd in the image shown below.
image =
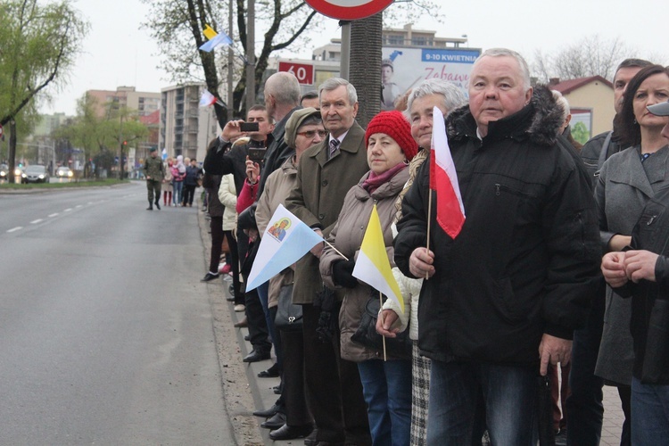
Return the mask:
{"type": "Polygon", "coordinates": [[[0,194],[0,444],[235,444],[196,208],[0,194]]]}

